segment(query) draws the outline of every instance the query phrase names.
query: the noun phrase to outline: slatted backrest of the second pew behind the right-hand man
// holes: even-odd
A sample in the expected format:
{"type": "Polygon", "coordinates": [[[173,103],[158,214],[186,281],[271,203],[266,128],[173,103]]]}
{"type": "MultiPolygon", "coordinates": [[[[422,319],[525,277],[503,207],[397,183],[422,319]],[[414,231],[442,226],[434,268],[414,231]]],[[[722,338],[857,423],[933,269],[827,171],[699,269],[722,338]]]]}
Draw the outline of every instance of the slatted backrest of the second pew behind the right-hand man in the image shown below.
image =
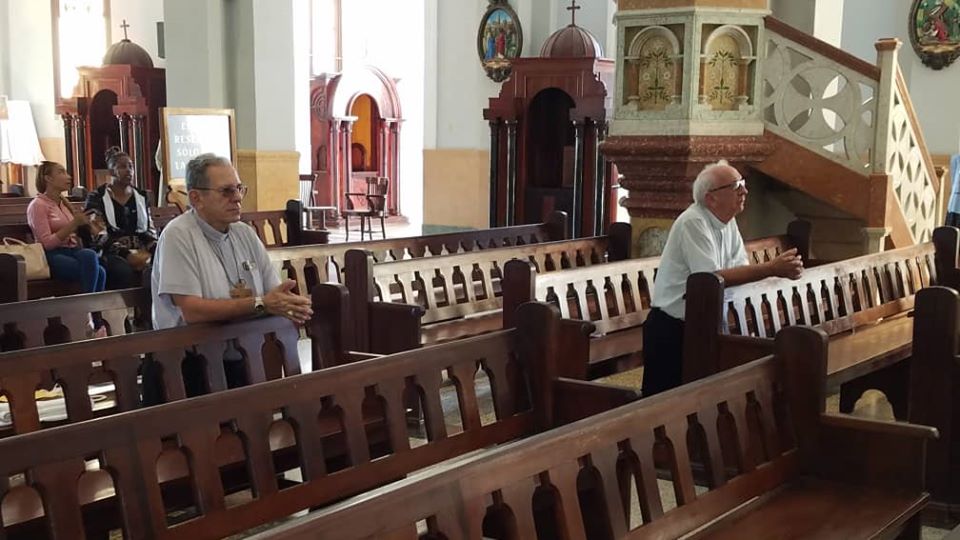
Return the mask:
{"type": "Polygon", "coordinates": [[[578,268],[606,261],[607,237],[484,249],[372,265],[372,300],[417,304],[430,323],[502,307],[503,268],[527,260],[539,272],[578,268]]]}

